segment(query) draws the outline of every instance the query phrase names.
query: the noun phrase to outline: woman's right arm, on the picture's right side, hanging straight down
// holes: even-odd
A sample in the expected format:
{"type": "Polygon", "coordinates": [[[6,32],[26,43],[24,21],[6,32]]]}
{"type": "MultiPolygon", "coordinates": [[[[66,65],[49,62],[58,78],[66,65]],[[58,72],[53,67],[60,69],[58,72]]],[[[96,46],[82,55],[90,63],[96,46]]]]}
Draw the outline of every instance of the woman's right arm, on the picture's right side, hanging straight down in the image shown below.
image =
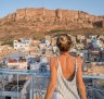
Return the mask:
{"type": "Polygon", "coordinates": [[[78,90],[81,96],[81,99],[87,99],[86,87],[82,79],[82,60],[80,58],[77,59],[77,66],[78,66],[77,70],[78,90]]]}

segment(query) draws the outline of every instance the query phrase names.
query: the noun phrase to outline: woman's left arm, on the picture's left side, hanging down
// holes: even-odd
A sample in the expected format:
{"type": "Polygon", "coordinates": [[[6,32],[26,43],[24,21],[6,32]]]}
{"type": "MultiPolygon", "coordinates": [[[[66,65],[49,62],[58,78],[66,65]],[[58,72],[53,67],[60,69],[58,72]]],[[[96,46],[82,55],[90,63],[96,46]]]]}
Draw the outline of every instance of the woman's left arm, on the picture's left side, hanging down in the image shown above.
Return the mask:
{"type": "Polygon", "coordinates": [[[55,58],[52,58],[50,61],[50,83],[47,89],[46,98],[44,99],[51,99],[52,94],[55,89],[56,86],[56,63],[55,63],[55,58]]]}

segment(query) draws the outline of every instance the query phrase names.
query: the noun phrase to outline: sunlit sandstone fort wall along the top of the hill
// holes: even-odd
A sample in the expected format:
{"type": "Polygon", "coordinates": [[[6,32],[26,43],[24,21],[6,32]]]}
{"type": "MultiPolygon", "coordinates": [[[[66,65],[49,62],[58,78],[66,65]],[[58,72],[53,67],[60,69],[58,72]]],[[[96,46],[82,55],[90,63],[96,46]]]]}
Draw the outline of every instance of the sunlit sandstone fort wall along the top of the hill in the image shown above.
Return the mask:
{"type": "Polygon", "coordinates": [[[54,17],[54,18],[60,18],[62,20],[67,20],[67,21],[82,21],[82,22],[95,22],[95,21],[102,21],[104,20],[102,16],[95,16],[95,15],[90,15],[83,11],[69,11],[69,10],[48,10],[44,8],[40,9],[18,9],[15,13],[9,14],[8,20],[35,20],[37,16],[44,16],[44,17],[54,17]]]}

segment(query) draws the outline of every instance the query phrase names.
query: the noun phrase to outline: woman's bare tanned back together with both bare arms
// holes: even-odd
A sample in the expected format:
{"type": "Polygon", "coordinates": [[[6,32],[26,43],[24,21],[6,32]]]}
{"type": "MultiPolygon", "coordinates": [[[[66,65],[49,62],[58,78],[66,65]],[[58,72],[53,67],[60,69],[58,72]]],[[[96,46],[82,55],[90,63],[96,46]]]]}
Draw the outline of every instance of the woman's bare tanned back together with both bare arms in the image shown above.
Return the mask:
{"type": "MultiPolygon", "coordinates": [[[[52,94],[54,92],[56,88],[56,76],[57,76],[57,57],[52,58],[50,61],[50,83],[47,89],[46,98],[44,99],[51,99],[52,94]]],[[[75,58],[67,54],[61,54],[58,57],[58,61],[61,63],[61,70],[63,73],[64,78],[72,81],[74,78],[75,74],[75,58]]],[[[82,60],[80,58],[77,58],[77,75],[76,75],[76,81],[77,81],[77,86],[78,90],[81,95],[82,99],[87,99],[86,97],[86,88],[84,84],[82,81],[82,71],[81,71],[81,65],[82,65],[82,60]]]]}

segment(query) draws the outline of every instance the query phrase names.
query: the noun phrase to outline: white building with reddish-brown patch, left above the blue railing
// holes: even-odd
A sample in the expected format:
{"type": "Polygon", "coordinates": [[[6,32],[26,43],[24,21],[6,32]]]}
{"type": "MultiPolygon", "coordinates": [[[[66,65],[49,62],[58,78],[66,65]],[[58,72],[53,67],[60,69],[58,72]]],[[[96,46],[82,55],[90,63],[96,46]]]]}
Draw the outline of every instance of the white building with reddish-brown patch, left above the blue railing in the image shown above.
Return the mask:
{"type": "Polygon", "coordinates": [[[6,57],[6,65],[8,67],[14,67],[18,70],[27,70],[27,58],[28,58],[28,52],[17,52],[17,53],[12,53],[6,57]]]}

